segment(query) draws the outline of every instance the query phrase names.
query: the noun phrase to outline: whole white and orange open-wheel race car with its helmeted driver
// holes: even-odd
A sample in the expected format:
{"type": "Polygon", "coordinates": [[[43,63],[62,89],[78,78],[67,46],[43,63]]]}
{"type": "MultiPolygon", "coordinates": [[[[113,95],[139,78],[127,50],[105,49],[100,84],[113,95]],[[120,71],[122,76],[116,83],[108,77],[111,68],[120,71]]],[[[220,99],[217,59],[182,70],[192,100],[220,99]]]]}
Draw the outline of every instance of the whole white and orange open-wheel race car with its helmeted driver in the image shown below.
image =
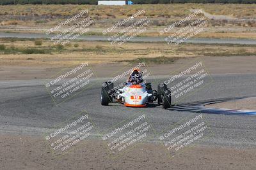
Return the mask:
{"type": "Polygon", "coordinates": [[[106,81],[102,85],[101,104],[122,103],[129,107],[147,107],[155,101],[163,105],[164,109],[170,108],[171,90],[164,83],[159,83],[157,90],[152,90],[151,83],[145,83],[142,73],[134,69],[129,79],[123,83],[122,88],[114,87],[113,81],[106,81]]]}

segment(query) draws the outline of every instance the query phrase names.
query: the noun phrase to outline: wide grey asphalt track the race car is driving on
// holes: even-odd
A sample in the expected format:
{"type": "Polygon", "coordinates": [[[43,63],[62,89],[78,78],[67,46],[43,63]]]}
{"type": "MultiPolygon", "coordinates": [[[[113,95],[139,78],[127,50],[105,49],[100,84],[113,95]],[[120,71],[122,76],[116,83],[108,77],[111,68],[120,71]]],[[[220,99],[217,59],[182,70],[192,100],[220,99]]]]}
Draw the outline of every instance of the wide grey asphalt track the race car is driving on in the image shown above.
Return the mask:
{"type": "MultiPolygon", "coordinates": [[[[161,81],[157,76],[157,81],[161,81]]],[[[208,78],[208,77],[207,77],[208,78]]],[[[211,85],[186,97],[179,106],[189,103],[218,99],[256,96],[256,73],[213,74],[211,85]]],[[[100,88],[106,78],[92,80],[93,86],[65,103],[56,106],[45,89],[45,80],[0,81],[0,133],[29,134],[42,136],[60,122],[86,111],[99,129],[93,138],[102,140],[100,134],[106,129],[131,117],[134,113],[145,114],[156,133],[163,132],[183,118],[198,113],[163,110],[161,106],[150,108],[127,108],[122,104],[100,105],[100,88]]],[[[156,87],[156,83],[153,83],[156,87]]],[[[175,101],[174,101],[175,102],[175,101]]],[[[211,127],[213,135],[198,145],[231,148],[256,148],[256,117],[252,115],[225,115],[202,113],[211,127]]],[[[149,142],[159,142],[159,136],[149,142]]]]}

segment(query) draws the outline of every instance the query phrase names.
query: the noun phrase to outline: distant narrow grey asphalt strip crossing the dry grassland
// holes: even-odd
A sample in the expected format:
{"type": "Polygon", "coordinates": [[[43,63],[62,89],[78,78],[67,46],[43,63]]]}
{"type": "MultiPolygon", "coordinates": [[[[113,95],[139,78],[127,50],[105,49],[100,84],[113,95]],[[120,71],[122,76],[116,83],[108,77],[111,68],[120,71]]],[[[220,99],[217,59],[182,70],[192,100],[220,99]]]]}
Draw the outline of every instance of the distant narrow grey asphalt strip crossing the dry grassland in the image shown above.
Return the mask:
{"type": "MultiPolygon", "coordinates": [[[[52,38],[53,35],[40,33],[11,33],[0,32],[0,38],[52,38]]],[[[108,36],[79,36],[77,40],[86,41],[108,41],[108,36]]],[[[134,37],[131,42],[164,42],[164,37],[134,37]]],[[[190,38],[185,43],[207,43],[207,44],[240,44],[256,45],[254,39],[217,39],[217,38],[190,38]]]]}

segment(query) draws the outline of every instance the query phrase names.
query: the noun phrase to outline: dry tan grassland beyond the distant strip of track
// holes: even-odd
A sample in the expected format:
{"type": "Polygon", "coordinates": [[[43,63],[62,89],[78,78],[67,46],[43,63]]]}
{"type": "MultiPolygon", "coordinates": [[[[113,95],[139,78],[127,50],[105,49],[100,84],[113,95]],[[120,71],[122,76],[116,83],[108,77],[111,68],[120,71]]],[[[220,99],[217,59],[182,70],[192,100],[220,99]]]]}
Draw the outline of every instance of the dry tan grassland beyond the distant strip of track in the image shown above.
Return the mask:
{"type": "MultiPolygon", "coordinates": [[[[195,37],[256,39],[255,4],[140,4],[125,6],[125,8],[72,4],[0,6],[2,13],[0,15],[0,30],[45,32],[60,23],[61,20],[74,16],[81,9],[86,8],[88,9],[88,15],[95,20],[93,25],[90,26],[92,28],[90,34],[102,35],[102,31],[106,27],[111,27],[120,19],[127,18],[136,11],[143,9],[151,22],[148,31],[141,35],[159,36],[159,31],[164,29],[166,25],[188,16],[189,13],[192,13],[192,9],[202,9],[202,15],[208,18],[209,24],[204,33],[197,34],[195,37]]],[[[202,15],[197,17],[199,18],[202,15]]],[[[169,36],[170,32],[166,32],[164,35],[169,36]]]]}

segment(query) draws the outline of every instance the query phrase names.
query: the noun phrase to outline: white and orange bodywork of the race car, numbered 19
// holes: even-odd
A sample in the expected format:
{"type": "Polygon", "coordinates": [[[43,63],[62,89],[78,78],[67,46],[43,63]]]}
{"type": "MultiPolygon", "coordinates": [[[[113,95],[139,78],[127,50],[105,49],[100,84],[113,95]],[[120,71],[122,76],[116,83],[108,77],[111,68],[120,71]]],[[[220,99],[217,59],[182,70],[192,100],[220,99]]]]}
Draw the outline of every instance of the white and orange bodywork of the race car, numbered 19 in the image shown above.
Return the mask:
{"type": "Polygon", "coordinates": [[[122,100],[125,106],[145,107],[148,98],[152,97],[152,94],[148,93],[144,83],[140,85],[126,85],[124,88],[118,90],[120,94],[118,94],[117,98],[122,100]]]}

